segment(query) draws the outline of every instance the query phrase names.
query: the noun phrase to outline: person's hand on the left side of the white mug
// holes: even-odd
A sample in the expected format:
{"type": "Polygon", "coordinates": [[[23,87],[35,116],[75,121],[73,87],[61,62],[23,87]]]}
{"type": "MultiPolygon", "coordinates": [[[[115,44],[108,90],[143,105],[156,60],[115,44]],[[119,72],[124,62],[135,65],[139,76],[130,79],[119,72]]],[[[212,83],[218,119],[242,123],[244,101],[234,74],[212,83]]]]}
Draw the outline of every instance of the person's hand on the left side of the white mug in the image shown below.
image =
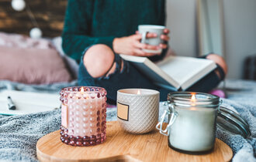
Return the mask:
{"type": "MultiPolygon", "coordinates": [[[[148,33],[147,38],[157,37],[155,33],[148,33]]],[[[130,35],[122,38],[116,38],[113,40],[113,49],[116,53],[132,55],[132,56],[155,56],[160,55],[161,53],[147,53],[143,49],[157,50],[161,46],[150,46],[140,42],[142,35],[139,33],[135,35],[130,35]]],[[[166,37],[164,37],[166,39],[166,37]]],[[[164,45],[162,45],[164,46],[164,45]]]]}

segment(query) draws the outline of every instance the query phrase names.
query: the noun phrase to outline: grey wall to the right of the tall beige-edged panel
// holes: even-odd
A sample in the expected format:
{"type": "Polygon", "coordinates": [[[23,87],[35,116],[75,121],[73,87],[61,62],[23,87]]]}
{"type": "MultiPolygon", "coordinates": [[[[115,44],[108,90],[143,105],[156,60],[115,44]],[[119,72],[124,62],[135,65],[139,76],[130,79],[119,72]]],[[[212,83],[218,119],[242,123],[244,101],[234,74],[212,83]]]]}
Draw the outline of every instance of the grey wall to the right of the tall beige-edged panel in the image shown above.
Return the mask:
{"type": "Polygon", "coordinates": [[[242,77],[246,56],[256,53],[256,1],[224,0],[228,78],[242,77]]]}

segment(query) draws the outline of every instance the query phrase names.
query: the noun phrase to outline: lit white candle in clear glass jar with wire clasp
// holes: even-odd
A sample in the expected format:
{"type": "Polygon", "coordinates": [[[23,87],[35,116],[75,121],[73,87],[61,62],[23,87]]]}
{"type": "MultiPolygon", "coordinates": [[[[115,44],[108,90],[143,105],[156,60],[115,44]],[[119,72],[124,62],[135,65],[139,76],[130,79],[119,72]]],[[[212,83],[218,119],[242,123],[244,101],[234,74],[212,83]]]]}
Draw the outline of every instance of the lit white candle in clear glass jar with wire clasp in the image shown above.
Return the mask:
{"type": "Polygon", "coordinates": [[[165,110],[157,129],[168,136],[169,147],[186,153],[213,150],[216,116],[220,98],[206,93],[169,93],[165,110]],[[162,130],[164,116],[168,126],[162,130]]]}

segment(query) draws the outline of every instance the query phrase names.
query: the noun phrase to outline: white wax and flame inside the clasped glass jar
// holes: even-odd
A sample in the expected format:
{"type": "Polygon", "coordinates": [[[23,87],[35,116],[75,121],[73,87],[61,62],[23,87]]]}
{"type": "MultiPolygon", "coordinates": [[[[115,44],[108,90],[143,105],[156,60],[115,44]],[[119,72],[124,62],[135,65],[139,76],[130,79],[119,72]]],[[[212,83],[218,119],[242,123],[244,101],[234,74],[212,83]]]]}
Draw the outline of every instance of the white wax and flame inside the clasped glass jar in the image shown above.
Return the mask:
{"type": "Polygon", "coordinates": [[[179,150],[211,150],[215,142],[217,109],[197,106],[195,93],[190,102],[191,107],[188,109],[175,106],[178,117],[170,127],[169,142],[179,150]]]}

